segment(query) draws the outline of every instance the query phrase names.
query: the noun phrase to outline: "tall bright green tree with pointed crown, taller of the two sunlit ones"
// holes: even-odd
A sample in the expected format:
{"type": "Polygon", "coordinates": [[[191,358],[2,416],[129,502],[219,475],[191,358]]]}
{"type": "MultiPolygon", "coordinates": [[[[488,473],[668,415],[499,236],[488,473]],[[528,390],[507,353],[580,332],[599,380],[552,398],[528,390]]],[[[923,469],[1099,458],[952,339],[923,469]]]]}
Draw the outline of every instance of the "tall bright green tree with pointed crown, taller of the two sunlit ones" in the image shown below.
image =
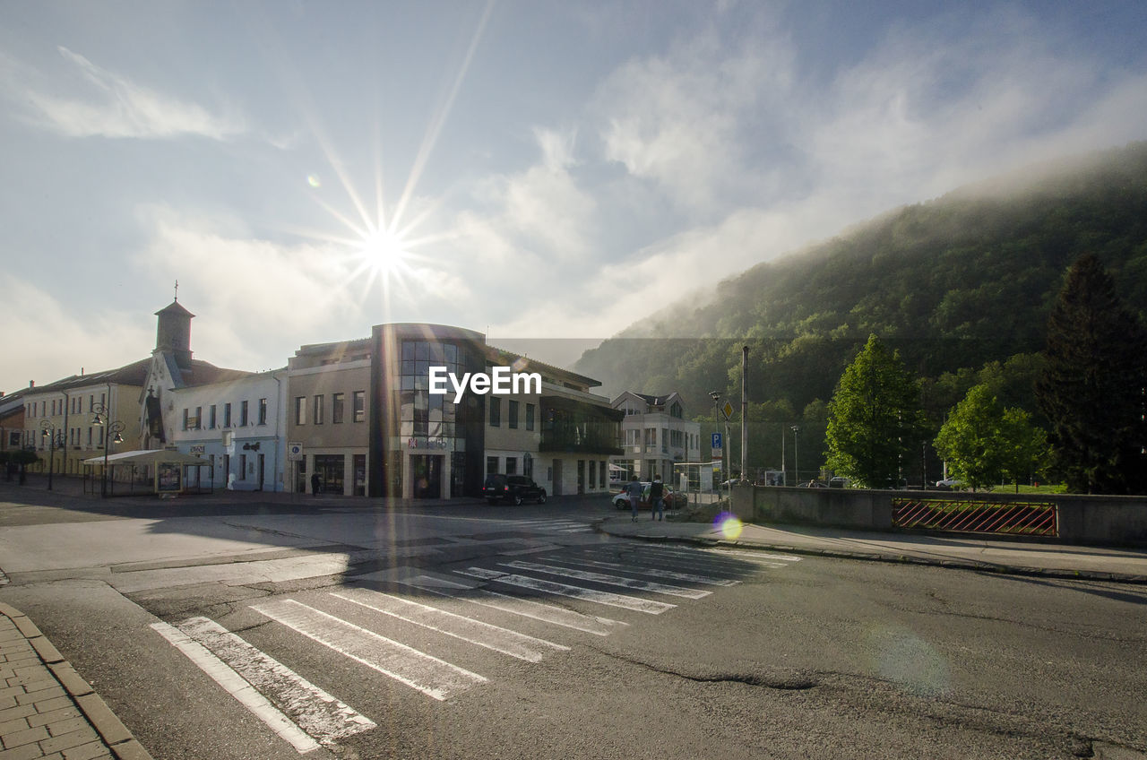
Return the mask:
{"type": "Polygon", "coordinates": [[[923,429],[916,380],[898,352],[869,335],[828,404],[828,466],[866,488],[897,484],[923,429]]]}

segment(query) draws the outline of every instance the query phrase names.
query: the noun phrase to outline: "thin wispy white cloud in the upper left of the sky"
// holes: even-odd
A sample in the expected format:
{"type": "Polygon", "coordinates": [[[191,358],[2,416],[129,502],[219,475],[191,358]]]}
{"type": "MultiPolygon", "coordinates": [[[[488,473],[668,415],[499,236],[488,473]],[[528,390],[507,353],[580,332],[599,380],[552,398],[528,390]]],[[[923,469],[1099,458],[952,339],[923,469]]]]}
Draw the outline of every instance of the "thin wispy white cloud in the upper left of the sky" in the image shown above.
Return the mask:
{"type": "Polygon", "coordinates": [[[247,131],[235,115],[155,92],[103,69],[65,47],[61,77],[47,77],[10,57],[2,64],[5,94],[28,121],[69,138],[170,139],[198,135],[227,140],[247,131]]]}

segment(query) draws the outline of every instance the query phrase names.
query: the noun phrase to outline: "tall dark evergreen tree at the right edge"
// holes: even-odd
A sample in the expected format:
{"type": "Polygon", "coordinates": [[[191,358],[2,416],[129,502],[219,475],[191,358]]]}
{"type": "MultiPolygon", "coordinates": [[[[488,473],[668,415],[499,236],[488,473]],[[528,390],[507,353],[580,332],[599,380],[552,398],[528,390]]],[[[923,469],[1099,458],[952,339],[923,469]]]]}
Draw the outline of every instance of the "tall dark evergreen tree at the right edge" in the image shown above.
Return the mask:
{"type": "Polygon", "coordinates": [[[1094,255],[1068,271],[1047,321],[1045,355],[1036,397],[1068,489],[1144,493],[1147,334],[1094,255]]]}

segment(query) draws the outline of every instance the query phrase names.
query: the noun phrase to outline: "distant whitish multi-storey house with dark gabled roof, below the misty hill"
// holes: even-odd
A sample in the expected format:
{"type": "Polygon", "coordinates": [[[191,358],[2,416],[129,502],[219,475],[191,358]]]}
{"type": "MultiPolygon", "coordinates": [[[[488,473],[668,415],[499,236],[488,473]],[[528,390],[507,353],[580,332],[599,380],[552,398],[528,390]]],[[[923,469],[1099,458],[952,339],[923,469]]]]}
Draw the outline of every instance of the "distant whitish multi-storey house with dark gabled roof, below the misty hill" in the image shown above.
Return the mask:
{"type": "Polygon", "coordinates": [[[612,408],[624,414],[624,453],[611,459],[619,480],[661,475],[670,481],[674,464],[701,459],[701,424],[685,419],[685,405],[676,391],[647,396],[626,390],[614,400],[612,408]]]}

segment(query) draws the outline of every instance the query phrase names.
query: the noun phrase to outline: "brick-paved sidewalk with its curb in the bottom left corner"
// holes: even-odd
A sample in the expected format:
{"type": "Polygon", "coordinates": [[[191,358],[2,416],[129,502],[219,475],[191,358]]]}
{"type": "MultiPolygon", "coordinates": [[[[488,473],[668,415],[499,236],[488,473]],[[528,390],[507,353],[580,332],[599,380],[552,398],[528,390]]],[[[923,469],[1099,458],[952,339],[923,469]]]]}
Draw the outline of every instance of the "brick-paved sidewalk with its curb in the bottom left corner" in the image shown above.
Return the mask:
{"type": "Polygon", "coordinates": [[[0,760],[151,760],[22,612],[0,603],[0,760]]]}

